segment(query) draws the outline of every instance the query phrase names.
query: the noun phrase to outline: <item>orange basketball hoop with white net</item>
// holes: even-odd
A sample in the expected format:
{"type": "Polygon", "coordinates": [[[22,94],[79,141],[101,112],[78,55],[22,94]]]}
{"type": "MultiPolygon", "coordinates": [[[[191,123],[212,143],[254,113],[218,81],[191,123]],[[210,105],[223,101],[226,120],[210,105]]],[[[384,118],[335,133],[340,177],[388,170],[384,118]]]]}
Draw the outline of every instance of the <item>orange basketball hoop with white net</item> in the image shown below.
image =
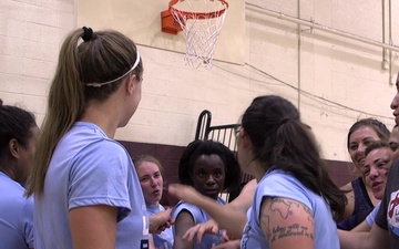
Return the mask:
{"type": "Polygon", "coordinates": [[[174,34],[183,30],[185,62],[192,68],[211,68],[227,9],[225,0],[172,0],[168,10],[162,12],[162,30],[174,34]],[[174,18],[174,23],[170,20],[168,25],[164,20],[167,14],[174,18]]]}

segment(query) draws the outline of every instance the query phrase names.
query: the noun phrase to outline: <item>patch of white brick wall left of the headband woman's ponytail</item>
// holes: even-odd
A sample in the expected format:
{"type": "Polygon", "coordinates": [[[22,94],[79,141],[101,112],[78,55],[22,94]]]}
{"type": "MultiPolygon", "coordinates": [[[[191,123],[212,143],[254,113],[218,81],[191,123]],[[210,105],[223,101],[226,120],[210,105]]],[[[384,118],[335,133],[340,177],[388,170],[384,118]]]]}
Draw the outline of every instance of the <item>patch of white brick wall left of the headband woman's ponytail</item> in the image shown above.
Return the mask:
{"type": "Polygon", "coordinates": [[[39,123],[62,39],[74,28],[73,0],[0,1],[0,97],[39,123]]]}

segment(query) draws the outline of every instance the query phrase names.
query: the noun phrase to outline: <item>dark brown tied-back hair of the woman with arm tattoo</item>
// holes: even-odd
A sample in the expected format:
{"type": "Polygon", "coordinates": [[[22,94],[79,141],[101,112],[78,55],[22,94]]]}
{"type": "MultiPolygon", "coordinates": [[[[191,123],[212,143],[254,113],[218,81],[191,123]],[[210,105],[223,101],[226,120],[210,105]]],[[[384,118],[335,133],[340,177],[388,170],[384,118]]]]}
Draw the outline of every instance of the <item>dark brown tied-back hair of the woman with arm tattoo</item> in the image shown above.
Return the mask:
{"type": "Polygon", "coordinates": [[[293,174],[327,200],[336,220],[342,217],[346,196],[329,178],[315,136],[293,103],[276,95],[258,96],[245,111],[242,126],[265,170],[274,167],[293,174]]]}

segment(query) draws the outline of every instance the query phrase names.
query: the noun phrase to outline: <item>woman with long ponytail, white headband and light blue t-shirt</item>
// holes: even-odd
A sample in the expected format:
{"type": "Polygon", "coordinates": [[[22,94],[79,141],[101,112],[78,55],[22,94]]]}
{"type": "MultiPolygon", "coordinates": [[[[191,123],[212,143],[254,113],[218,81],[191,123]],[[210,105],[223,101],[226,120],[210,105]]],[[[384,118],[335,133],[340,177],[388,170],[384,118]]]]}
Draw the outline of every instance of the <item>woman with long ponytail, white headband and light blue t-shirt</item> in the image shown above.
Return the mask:
{"type": "Polygon", "coordinates": [[[137,48],[122,33],[84,27],[64,40],[28,188],[35,248],[147,248],[140,181],[114,141],[137,108],[142,79],[137,48]]]}

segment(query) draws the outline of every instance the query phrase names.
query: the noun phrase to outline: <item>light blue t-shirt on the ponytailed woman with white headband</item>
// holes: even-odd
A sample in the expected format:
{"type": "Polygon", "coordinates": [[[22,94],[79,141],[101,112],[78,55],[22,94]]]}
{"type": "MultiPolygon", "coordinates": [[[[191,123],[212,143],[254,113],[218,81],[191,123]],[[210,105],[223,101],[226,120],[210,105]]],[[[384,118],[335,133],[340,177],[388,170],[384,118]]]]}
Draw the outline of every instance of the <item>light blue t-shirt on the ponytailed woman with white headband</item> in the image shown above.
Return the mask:
{"type": "Polygon", "coordinates": [[[69,210],[119,208],[116,249],[147,248],[149,215],[132,159],[92,123],[76,122],[61,138],[34,198],[34,248],[72,249],[69,210]]]}

